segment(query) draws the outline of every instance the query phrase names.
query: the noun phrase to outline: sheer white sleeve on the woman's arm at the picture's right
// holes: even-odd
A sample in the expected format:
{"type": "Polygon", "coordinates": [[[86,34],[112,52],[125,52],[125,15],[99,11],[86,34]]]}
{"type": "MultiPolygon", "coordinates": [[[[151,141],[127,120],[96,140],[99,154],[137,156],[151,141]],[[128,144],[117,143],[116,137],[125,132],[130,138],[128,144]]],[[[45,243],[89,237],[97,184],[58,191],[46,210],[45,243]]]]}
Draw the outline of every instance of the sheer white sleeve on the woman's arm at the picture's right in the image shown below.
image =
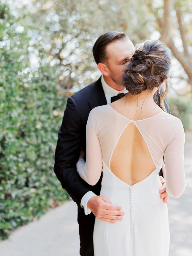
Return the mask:
{"type": "Polygon", "coordinates": [[[175,124],[175,132],[165,153],[166,191],[169,196],[180,197],[185,190],[184,143],[185,133],[181,121],[175,124]]]}

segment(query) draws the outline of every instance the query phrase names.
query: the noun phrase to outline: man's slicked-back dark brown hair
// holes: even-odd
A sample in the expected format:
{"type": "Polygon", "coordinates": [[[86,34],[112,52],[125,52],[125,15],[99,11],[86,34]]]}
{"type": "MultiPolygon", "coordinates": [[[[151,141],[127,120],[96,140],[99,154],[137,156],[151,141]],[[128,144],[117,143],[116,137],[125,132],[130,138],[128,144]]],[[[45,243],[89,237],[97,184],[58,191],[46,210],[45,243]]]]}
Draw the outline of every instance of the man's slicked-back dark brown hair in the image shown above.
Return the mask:
{"type": "Polygon", "coordinates": [[[106,46],[114,41],[129,39],[129,37],[124,32],[110,31],[98,37],[93,46],[93,57],[95,62],[98,64],[100,62],[107,61],[106,46]]]}

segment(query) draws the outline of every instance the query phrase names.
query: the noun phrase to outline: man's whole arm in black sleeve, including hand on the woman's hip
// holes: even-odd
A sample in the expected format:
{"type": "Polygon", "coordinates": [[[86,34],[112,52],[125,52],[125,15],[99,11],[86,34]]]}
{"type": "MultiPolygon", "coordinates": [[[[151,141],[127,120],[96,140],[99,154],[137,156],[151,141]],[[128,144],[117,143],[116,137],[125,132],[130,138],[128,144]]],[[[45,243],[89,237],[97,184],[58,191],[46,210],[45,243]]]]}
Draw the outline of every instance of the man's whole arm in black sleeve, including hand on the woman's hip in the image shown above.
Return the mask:
{"type": "Polygon", "coordinates": [[[85,206],[87,204],[97,219],[110,223],[122,220],[124,212],[120,211],[121,206],[111,204],[106,196],[93,196],[89,185],[76,170],[82,146],[82,127],[77,106],[72,98],[68,98],[58,137],[54,172],[62,188],[68,192],[79,209],[81,203],[85,206]],[[82,200],[84,202],[81,202],[82,200]]]}

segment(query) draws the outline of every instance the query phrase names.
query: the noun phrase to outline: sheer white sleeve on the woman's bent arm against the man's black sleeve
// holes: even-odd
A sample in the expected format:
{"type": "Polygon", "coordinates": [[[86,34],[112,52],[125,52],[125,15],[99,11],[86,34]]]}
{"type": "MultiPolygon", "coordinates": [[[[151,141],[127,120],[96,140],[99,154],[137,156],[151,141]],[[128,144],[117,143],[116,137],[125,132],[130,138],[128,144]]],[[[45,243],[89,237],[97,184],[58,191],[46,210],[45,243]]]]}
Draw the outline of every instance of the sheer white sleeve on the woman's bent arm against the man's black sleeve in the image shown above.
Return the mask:
{"type": "Polygon", "coordinates": [[[87,154],[86,162],[80,157],[77,172],[89,185],[94,186],[101,177],[102,151],[96,133],[96,115],[94,109],[90,112],[86,126],[87,154]]]}

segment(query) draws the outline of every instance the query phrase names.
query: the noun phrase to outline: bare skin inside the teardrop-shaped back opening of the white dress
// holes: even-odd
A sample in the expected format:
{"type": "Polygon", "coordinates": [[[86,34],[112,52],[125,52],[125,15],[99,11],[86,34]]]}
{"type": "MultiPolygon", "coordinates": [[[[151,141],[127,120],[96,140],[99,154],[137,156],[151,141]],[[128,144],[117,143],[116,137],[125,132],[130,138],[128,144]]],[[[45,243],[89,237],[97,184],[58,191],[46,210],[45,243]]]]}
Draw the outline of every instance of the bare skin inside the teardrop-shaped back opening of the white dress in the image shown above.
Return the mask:
{"type": "Polygon", "coordinates": [[[134,122],[119,138],[111,160],[111,171],[125,183],[133,185],[156,169],[146,142],[134,122]]]}

